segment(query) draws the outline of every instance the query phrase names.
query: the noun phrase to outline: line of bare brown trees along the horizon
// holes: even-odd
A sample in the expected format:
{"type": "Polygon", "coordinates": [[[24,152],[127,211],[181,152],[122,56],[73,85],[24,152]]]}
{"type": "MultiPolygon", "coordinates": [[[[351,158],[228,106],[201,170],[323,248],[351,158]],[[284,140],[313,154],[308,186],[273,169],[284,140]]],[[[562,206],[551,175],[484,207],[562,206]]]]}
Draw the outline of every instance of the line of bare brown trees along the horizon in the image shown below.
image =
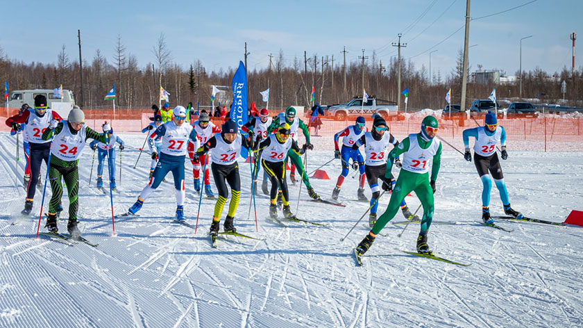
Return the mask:
{"type": "MultiPolygon", "coordinates": [[[[201,60],[194,59],[187,67],[172,60],[172,54],[160,34],[151,52],[155,60],[146,65],[140,64],[131,54],[118,35],[113,45],[114,55],[105,58],[98,49],[92,58],[83,60],[83,99],[81,96],[80,66],[78,60],[69,58],[65,45],[56,56],[56,63],[24,63],[11,59],[0,47],[0,79],[8,81],[10,90],[34,88],[63,88],[72,90],[76,102],[83,108],[110,108],[110,101],[103,100],[112,84],[116,85],[116,106],[119,108],[149,108],[158,104],[160,85],[167,90],[172,106],[185,105],[192,101],[196,105],[209,105],[211,85],[223,85],[219,88],[226,92],[217,94],[217,102],[229,105],[232,100],[230,92],[231,79],[235,68],[219,68],[210,72],[201,60]]],[[[73,52],[74,54],[74,52],[73,52]]],[[[460,50],[453,69],[450,72],[432,72],[430,79],[425,65],[416,67],[412,60],[401,61],[401,85],[409,88],[407,107],[443,108],[447,90],[452,89],[452,104],[459,104],[462,86],[462,58],[460,50]]],[[[306,58],[307,59],[307,58],[306,58]]],[[[234,65],[236,67],[236,65],[234,65]]],[[[468,65],[468,71],[471,66],[468,65]]],[[[316,101],[320,104],[341,104],[354,96],[362,95],[362,74],[364,71],[364,89],[369,96],[397,101],[398,59],[392,57],[389,63],[373,54],[362,65],[360,60],[346,63],[341,60],[332,62],[331,56],[312,54],[309,59],[286,59],[279,51],[269,67],[248,69],[248,102],[255,101],[257,108],[262,108],[261,91],[270,88],[269,108],[286,108],[289,105],[312,106],[312,85],[316,101]],[[335,64],[336,63],[336,64],[335,64]],[[335,64],[335,65],[334,65],[335,64]],[[332,67],[332,65],[334,65],[332,67]]],[[[537,98],[541,102],[554,104],[561,102],[561,81],[568,83],[566,104],[583,106],[583,69],[575,70],[564,67],[561,72],[545,72],[535,69],[522,72],[522,95],[525,99],[537,98]]],[[[518,72],[515,74],[518,76],[518,72]]],[[[518,82],[508,85],[494,85],[493,81],[476,83],[469,79],[467,86],[468,103],[471,99],[485,99],[492,88],[497,88],[498,98],[518,99],[518,82]]],[[[403,96],[401,96],[403,97],[403,96]]]]}

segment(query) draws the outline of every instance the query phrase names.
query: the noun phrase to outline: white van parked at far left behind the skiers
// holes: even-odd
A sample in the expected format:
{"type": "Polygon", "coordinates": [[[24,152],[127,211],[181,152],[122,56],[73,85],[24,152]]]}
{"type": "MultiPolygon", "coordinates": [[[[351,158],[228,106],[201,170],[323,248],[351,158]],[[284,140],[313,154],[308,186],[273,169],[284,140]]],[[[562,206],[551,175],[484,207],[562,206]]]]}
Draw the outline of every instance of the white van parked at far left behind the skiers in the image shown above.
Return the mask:
{"type": "Polygon", "coordinates": [[[35,97],[44,95],[47,97],[47,105],[55,110],[61,117],[67,117],[69,110],[75,106],[75,99],[71,90],[62,90],[62,99],[53,95],[52,89],[35,90],[13,90],[8,96],[8,107],[20,108],[23,104],[28,104],[31,108],[35,106],[35,97]]]}

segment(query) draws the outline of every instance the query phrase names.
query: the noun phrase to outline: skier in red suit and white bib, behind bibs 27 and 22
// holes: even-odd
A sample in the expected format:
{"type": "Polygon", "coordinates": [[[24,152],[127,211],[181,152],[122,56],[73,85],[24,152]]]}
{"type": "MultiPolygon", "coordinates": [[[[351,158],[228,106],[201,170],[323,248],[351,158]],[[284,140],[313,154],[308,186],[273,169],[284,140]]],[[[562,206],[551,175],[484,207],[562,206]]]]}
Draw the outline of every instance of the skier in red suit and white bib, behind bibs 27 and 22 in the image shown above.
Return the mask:
{"type": "MultiPolygon", "coordinates": [[[[198,116],[198,121],[192,123],[192,127],[196,130],[196,136],[198,136],[198,140],[200,141],[200,145],[204,145],[205,142],[210,140],[214,133],[221,132],[221,126],[216,126],[212,122],[210,122],[210,117],[207,113],[201,113],[198,116]]],[[[195,148],[195,145],[192,143],[188,144],[188,154],[192,158],[192,155],[196,152],[198,147],[195,148]]],[[[209,198],[214,198],[214,194],[212,193],[212,189],[210,188],[210,174],[208,174],[208,159],[206,155],[199,156],[199,161],[192,161],[192,176],[194,177],[194,190],[201,193],[201,181],[198,179],[201,175],[201,165],[205,165],[206,170],[204,172],[205,178],[205,195],[209,198]]]]}

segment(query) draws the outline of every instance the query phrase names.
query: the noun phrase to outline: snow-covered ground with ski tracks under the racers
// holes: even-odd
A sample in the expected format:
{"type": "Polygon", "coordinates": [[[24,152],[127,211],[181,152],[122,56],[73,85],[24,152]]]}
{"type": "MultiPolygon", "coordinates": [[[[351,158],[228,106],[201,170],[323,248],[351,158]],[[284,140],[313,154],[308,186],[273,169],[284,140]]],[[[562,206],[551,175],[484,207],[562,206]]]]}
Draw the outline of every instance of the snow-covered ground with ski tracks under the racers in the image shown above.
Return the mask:
{"type": "MultiPolygon", "coordinates": [[[[135,202],[149,172],[148,154],[132,168],[143,136],[122,138],[127,146],[121,181],[117,167],[117,214],[135,202]]],[[[247,218],[249,164],[239,162],[244,187],[235,226],[266,240],[226,236],[212,249],[206,233],[214,201],[203,198],[196,234],[174,224],[171,175],[140,217],[116,220],[112,236],[110,197],[96,190],[94,181],[88,186],[88,147],[81,159],[78,214],[83,236],[99,246],[69,246],[45,236],[35,240],[42,193],[35,196],[36,218],[10,225],[24,206],[23,163],[15,187],[15,138],[1,133],[0,327],[583,327],[583,230],[499,221],[514,229],[508,233],[478,224],[481,183],[475,167],[446,145],[444,150],[429,243],[437,255],[471,266],[403,253],[414,250],[419,225],[410,224],[398,238],[404,226],[389,223],[383,230],[388,236],[379,236],[364,267],[357,267],[351,249],[368,232],[366,218],[340,241],[368,208],[350,200],[356,198],[357,179],[344,183],[344,208],[309,202],[302,188],[298,217],[327,227],[271,223],[268,197],[260,192],[256,232],[253,210],[247,218]]],[[[310,151],[308,170],[330,158],[331,150],[310,151]]],[[[556,222],[572,209],[582,210],[582,163],[581,152],[512,151],[509,140],[502,169],[512,206],[556,222]]],[[[340,163],[325,169],[331,179],[312,184],[329,198],[340,163]]],[[[195,224],[198,197],[190,172],[187,163],[185,215],[195,224]]],[[[290,187],[293,211],[298,186],[290,187]]],[[[368,187],[366,195],[371,195],[368,187]]],[[[379,213],[388,202],[387,196],[380,199],[379,213]]],[[[407,202],[413,211],[419,206],[414,196],[407,202]]],[[[66,197],[63,203],[67,208],[66,197]]],[[[502,214],[496,188],[491,212],[502,214]]],[[[66,220],[65,210],[61,231],[66,220]]],[[[394,221],[403,216],[398,213],[394,221]]]]}

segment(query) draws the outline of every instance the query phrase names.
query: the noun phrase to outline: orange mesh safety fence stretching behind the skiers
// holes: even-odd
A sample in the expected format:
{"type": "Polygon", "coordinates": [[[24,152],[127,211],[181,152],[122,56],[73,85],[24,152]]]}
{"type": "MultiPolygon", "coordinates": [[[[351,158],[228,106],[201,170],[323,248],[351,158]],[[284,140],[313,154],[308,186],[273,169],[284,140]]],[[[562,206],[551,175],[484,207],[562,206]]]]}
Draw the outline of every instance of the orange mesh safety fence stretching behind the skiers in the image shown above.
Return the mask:
{"type": "MultiPolygon", "coordinates": [[[[118,133],[140,133],[151,122],[152,111],[144,109],[116,109],[115,117],[112,109],[83,110],[85,122],[99,131],[101,124],[108,120],[112,122],[113,129],[118,133]]],[[[276,115],[279,110],[270,110],[271,115],[276,115]]],[[[8,115],[18,113],[18,108],[8,108],[8,115]]],[[[0,110],[0,120],[6,120],[6,109],[0,110]]],[[[507,135],[507,146],[513,150],[534,151],[583,151],[583,117],[561,117],[559,115],[514,115],[503,118],[498,117],[498,123],[504,126],[507,135]]],[[[387,125],[389,131],[398,139],[406,138],[410,133],[417,133],[421,129],[423,113],[399,114],[389,117],[387,125]]],[[[196,118],[196,117],[194,117],[196,118]]],[[[366,126],[372,127],[372,117],[365,117],[366,126]]],[[[483,114],[467,118],[464,113],[448,116],[437,116],[439,121],[439,138],[450,142],[454,147],[463,151],[462,132],[478,124],[483,124],[483,114]]],[[[220,125],[225,119],[211,117],[214,124],[220,125]]],[[[303,117],[305,124],[310,124],[311,117],[307,114],[303,117]]],[[[332,149],[335,133],[355,124],[355,117],[348,117],[344,121],[334,120],[332,117],[319,117],[321,125],[319,129],[310,127],[310,136],[316,149],[332,149]]],[[[310,124],[312,125],[312,124],[310,124]]],[[[10,131],[6,124],[0,124],[0,131],[10,131]]],[[[300,133],[301,134],[301,133],[300,133]]],[[[303,142],[301,136],[300,142],[303,142]]],[[[444,150],[453,150],[444,145],[444,150]]]]}

